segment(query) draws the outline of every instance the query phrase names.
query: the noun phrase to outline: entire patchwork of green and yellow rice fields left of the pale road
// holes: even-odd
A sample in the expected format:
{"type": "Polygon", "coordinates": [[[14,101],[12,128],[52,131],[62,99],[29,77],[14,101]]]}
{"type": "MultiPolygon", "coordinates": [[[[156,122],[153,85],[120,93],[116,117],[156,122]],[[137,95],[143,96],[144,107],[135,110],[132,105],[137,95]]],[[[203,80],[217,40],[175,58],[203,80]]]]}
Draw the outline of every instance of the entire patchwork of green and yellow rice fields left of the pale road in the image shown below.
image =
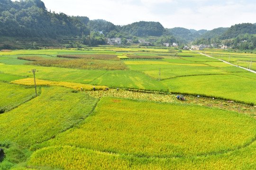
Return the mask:
{"type": "Polygon", "coordinates": [[[0,170],[256,169],[256,74],[197,52],[1,51],[0,170]]]}

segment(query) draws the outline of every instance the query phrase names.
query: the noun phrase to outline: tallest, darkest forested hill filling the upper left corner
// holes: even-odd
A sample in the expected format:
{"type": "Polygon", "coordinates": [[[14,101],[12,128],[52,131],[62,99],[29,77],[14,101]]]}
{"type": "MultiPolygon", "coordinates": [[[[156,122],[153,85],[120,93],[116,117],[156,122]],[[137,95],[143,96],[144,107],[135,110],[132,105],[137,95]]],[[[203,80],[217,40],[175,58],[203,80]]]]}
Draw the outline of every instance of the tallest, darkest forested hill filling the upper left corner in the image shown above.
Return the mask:
{"type": "Polygon", "coordinates": [[[46,10],[41,0],[0,0],[0,35],[9,37],[80,36],[89,29],[76,17],[46,10]]]}

